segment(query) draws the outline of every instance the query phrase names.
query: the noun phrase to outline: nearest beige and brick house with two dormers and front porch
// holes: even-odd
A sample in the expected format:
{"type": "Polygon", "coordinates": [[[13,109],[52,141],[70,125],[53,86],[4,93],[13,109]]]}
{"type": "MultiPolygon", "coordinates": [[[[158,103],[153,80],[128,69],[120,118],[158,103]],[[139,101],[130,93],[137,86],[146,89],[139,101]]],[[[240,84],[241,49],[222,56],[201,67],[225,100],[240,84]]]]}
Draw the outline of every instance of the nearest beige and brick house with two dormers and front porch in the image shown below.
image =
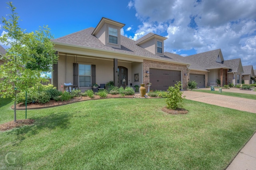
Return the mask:
{"type": "Polygon", "coordinates": [[[96,28],[87,28],[52,40],[58,52],[52,83],[78,85],[81,91],[97,83],[114,81],[115,86],[152,83],[154,90],[166,90],[182,82],[187,85],[186,62],[164,53],[165,37],[149,33],[137,41],[120,34],[124,24],[102,18],[96,28]]]}

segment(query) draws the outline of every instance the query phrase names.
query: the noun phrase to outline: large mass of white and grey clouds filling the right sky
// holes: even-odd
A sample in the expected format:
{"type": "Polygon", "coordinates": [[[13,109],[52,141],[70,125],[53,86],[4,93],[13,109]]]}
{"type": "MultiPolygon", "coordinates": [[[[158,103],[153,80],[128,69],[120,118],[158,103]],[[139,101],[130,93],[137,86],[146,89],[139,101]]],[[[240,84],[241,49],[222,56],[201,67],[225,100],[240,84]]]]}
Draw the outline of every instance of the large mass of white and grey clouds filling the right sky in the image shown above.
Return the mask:
{"type": "Polygon", "coordinates": [[[256,69],[255,0],[134,0],[142,21],[132,39],[153,32],[167,35],[165,51],[195,49],[197,53],[220,48],[224,59],[241,58],[256,69]],[[144,34],[141,34],[144,32],[144,34]]]}

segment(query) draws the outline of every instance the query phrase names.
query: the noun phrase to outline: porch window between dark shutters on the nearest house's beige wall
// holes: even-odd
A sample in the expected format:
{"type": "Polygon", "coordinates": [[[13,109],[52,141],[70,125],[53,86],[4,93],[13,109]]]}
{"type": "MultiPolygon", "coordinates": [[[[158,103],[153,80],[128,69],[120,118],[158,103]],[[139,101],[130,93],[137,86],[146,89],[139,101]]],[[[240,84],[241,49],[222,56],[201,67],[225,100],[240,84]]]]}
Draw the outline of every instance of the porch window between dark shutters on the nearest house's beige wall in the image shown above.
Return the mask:
{"type": "Polygon", "coordinates": [[[79,87],[91,87],[91,65],[79,64],[79,87]]]}

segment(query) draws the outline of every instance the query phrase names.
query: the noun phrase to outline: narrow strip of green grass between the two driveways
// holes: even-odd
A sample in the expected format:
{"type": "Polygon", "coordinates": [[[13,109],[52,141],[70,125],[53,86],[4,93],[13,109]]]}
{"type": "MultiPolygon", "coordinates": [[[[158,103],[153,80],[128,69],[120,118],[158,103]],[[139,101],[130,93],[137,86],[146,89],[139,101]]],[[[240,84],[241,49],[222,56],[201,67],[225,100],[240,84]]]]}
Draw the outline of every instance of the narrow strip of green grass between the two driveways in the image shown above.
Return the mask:
{"type": "Polygon", "coordinates": [[[194,91],[256,100],[256,95],[250,95],[250,94],[244,94],[244,93],[232,93],[232,92],[226,92],[226,91],[222,91],[222,93],[220,93],[218,91],[218,89],[216,91],[211,91],[210,89],[207,89],[207,90],[199,90],[198,89],[198,90],[194,90],[194,91]]]}

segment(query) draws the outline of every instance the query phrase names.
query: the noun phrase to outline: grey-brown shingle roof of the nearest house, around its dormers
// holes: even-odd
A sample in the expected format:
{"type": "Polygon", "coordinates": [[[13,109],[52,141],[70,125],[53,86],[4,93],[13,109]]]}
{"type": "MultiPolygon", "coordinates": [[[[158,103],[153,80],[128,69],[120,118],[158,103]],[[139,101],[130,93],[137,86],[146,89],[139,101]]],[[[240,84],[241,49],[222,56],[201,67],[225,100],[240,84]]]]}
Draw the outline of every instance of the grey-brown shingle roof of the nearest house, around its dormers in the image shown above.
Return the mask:
{"type": "MultiPolygon", "coordinates": [[[[75,45],[81,48],[85,47],[85,48],[92,48],[92,49],[101,49],[109,52],[126,53],[128,55],[136,55],[140,57],[149,57],[152,59],[158,59],[162,61],[180,63],[166,56],[161,57],[158,55],[154,55],[148,50],[140,47],[139,45],[136,45],[136,41],[122,35],[121,35],[120,49],[106,46],[98,38],[92,35],[93,31],[94,31],[94,28],[91,27],[91,28],[87,28],[87,29],[69,34],[67,36],[53,39],[51,41],[55,44],[60,44],[60,45],[67,45],[67,46],[75,45]]],[[[182,63],[182,64],[186,64],[186,63],[182,63]]]]}

